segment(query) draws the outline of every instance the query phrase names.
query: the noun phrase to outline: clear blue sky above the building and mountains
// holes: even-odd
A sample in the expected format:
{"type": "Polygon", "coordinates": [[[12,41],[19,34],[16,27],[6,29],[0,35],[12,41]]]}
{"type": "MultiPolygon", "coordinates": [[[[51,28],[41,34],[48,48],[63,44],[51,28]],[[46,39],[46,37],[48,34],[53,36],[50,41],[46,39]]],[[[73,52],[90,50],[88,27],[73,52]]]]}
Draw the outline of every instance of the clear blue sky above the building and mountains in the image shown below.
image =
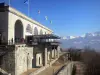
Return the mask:
{"type": "MultiPolygon", "coordinates": [[[[0,0],[3,1],[8,3],[9,0],[0,0]]],[[[24,1],[11,0],[11,6],[28,16],[28,5],[24,1]]],[[[29,17],[52,29],[55,34],[79,36],[100,31],[100,0],[29,1],[29,17]],[[45,16],[48,16],[48,20],[45,20],[45,16]]]]}

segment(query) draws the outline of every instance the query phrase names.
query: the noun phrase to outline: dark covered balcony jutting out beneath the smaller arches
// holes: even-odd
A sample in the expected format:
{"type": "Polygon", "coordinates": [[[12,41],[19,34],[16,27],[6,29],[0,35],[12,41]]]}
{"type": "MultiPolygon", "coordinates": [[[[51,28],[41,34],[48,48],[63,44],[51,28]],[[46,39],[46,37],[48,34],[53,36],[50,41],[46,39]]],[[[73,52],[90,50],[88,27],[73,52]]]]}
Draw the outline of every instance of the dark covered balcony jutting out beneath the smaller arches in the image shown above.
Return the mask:
{"type": "Polygon", "coordinates": [[[30,45],[39,45],[39,44],[59,45],[60,44],[59,39],[60,37],[54,34],[26,36],[27,44],[30,45]]]}

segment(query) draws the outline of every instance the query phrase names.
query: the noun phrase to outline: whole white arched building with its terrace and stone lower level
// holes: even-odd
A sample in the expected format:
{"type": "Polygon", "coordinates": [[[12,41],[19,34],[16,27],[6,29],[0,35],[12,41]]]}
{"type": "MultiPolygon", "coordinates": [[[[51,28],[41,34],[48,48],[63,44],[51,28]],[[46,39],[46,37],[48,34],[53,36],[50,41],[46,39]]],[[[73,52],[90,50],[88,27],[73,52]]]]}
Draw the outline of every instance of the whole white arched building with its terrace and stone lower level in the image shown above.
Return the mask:
{"type": "Polygon", "coordinates": [[[20,75],[50,64],[59,57],[57,39],[51,29],[0,3],[0,75],[20,75]]]}

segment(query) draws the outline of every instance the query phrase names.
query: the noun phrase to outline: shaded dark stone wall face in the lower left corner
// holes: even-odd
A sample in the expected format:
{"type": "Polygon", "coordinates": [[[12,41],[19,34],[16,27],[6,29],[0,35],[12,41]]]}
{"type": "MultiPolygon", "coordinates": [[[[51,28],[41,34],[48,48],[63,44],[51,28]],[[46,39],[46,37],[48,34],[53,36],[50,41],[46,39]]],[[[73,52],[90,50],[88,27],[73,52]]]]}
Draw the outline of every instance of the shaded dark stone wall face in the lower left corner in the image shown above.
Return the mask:
{"type": "MultiPolygon", "coordinates": [[[[0,48],[1,49],[1,48],[0,48]]],[[[0,72],[15,75],[15,51],[14,47],[2,47],[5,54],[0,56],[0,72]]]]}

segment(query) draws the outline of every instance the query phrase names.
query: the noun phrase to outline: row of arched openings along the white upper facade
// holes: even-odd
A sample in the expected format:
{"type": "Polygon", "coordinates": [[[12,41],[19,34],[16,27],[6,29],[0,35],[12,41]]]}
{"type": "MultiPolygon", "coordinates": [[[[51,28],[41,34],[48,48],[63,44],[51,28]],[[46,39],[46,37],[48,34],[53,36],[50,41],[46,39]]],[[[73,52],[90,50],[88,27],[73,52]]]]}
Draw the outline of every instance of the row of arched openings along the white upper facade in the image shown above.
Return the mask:
{"type": "MultiPolygon", "coordinates": [[[[43,31],[42,29],[38,32],[38,28],[35,27],[34,29],[32,29],[31,25],[28,24],[26,26],[26,30],[25,32],[28,32],[30,34],[34,34],[34,35],[42,35],[43,34],[43,31]]],[[[14,35],[15,35],[15,39],[16,40],[19,40],[19,39],[22,39],[23,38],[23,33],[24,33],[24,27],[23,27],[23,23],[21,22],[21,20],[17,20],[15,22],[15,28],[14,28],[14,35]]],[[[46,34],[46,32],[45,32],[46,34]]]]}

